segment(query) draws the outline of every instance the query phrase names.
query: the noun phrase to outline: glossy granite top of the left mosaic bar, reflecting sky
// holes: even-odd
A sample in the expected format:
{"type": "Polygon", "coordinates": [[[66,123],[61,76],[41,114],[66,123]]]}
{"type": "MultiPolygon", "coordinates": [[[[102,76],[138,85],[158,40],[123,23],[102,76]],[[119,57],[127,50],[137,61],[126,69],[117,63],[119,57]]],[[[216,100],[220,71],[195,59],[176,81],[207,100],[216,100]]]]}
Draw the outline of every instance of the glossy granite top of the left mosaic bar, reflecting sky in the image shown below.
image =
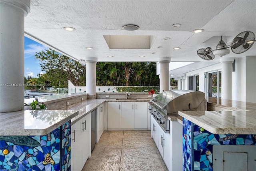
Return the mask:
{"type": "Polygon", "coordinates": [[[46,135],[76,115],[77,110],[22,110],[1,113],[0,135],[46,135]]]}

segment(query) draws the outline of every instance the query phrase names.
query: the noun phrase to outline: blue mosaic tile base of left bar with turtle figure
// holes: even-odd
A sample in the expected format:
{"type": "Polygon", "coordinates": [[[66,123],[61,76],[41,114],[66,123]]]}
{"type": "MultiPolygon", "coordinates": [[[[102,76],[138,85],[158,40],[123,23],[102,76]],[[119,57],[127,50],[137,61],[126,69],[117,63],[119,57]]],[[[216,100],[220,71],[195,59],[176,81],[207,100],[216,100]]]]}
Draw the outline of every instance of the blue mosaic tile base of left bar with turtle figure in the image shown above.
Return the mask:
{"type": "Polygon", "coordinates": [[[47,135],[0,136],[0,171],[70,171],[71,124],[47,135]]]}

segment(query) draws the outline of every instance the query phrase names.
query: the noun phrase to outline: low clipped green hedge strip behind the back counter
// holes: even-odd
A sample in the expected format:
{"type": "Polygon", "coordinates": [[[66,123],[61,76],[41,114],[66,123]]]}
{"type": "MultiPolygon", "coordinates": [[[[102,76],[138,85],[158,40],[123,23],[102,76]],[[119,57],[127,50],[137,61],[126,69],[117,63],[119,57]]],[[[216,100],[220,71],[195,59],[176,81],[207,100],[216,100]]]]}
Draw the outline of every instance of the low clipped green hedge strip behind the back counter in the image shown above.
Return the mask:
{"type": "Polygon", "coordinates": [[[116,91],[118,92],[148,92],[150,90],[154,89],[155,93],[159,93],[159,86],[125,86],[125,87],[116,87],[116,91]],[[147,90],[147,91],[145,91],[147,90]]]}

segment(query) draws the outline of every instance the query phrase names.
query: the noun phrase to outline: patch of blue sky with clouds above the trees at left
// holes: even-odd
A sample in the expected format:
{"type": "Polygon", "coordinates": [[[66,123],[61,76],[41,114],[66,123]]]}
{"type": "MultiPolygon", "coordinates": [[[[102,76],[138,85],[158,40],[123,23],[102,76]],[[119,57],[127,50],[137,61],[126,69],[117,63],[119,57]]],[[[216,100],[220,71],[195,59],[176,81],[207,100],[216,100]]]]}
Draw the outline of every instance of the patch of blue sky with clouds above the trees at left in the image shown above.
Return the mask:
{"type": "Polygon", "coordinates": [[[37,74],[42,73],[39,60],[35,59],[36,52],[48,49],[48,47],[24,37],[24,76],[36,77],[37,74]]]}

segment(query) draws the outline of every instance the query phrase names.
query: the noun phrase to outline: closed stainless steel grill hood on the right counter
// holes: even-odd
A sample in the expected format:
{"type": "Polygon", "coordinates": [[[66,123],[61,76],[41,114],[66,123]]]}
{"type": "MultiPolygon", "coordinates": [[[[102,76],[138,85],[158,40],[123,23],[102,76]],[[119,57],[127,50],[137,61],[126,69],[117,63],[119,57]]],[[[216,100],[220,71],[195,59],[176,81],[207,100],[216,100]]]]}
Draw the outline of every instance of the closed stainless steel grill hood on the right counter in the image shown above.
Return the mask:
{"type": "Polygon", "coordinates": [[[169,90],[156,95],[152,103],[166,115],[178,115],[181,110],[204,110],[204,107],[198,109],[204,106],[204,97],[205,93],[201,91],[169,90]]]}

